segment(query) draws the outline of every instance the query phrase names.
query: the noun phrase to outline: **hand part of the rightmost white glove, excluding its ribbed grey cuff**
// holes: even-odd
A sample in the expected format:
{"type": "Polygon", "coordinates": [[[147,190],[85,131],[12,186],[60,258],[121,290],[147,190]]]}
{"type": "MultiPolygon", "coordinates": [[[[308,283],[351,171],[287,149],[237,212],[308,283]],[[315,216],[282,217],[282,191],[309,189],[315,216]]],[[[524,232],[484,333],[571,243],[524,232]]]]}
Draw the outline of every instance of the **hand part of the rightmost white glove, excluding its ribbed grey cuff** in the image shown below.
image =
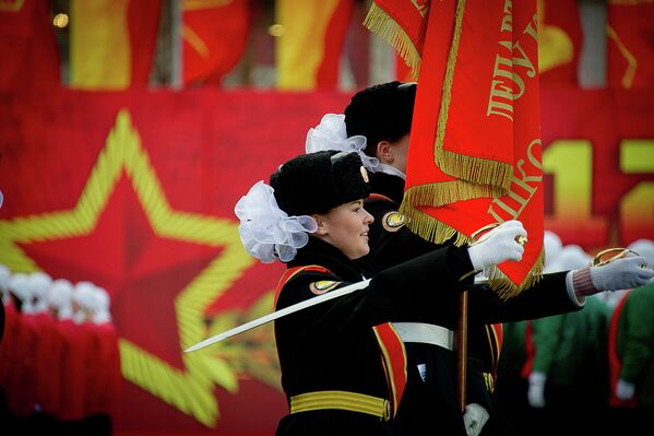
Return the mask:
{"type": "Polygon", "coordinates": [[[597,291],[633,290],[654,276],[642,256],[627,256],[599,267],[591,267],[591,280],[597,291]]]}

